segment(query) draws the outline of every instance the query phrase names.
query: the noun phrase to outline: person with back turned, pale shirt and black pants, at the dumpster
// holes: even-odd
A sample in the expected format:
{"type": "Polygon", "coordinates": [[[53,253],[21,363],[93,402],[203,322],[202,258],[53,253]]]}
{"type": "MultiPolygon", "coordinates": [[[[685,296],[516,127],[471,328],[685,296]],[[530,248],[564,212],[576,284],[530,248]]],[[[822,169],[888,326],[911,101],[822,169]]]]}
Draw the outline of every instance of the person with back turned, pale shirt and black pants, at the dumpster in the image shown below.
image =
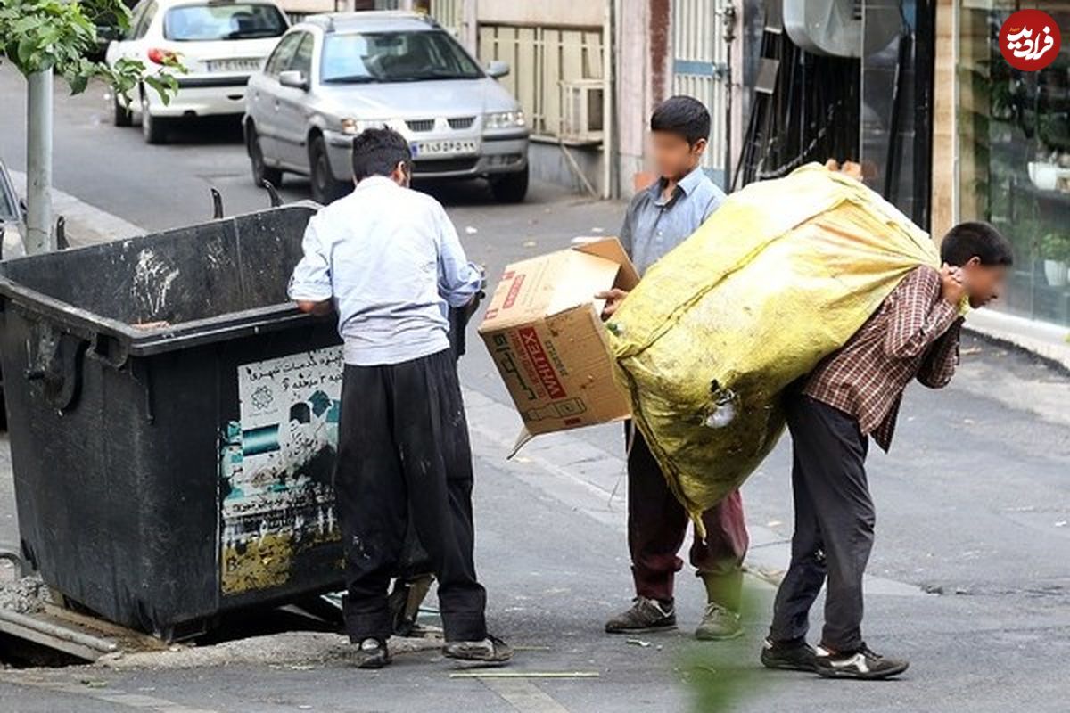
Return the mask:
{"type": "Polygon", "coordinates": [[[345,340],[334,485],[346,554],[346,627],[360,668],[391,662],[386,585],[410,513],[439,579],[452,658],[502,664],[472,558],[472,453],[446,306],[483,282],[433,198],[409,189],[412,154],[392,129],[353,139],[349,196],[309,222],[290,297],[338,310],[345,340]]]}

